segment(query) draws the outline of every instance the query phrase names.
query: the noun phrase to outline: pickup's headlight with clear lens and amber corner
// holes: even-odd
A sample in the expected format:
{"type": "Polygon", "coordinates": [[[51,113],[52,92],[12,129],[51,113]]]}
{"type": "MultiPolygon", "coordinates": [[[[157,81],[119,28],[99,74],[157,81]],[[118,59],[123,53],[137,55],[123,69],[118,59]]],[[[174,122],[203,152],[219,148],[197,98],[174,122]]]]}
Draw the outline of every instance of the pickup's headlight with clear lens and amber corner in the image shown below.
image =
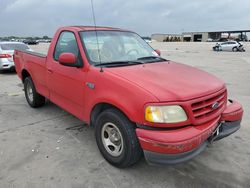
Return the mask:
{"type": "Polygon", "coordinates": [[[153,123],[178,123],[187,120],[183,108],[172,106],[148,106],[145,110],[145,119],[153,123]]]}

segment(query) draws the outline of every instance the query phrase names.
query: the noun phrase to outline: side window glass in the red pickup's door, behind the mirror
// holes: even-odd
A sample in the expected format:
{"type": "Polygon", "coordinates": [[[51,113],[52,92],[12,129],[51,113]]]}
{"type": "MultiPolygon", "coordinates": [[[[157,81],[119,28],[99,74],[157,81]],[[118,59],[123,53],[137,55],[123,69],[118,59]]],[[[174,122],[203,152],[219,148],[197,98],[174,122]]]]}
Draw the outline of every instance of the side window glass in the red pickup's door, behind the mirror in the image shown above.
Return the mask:
{"type": "Polygon", "coordinates": [[[55,51],[54,51],[54,59],[58,61],[61,53],[65,53],[65,52],[75,54],[77,58],[77,64],[81,63],[81,56],[79,53],[79,48],[77,45],[75,35],[74,33],[69,32],[69,31],[63,31],[60,34],[59,39],[56,43],[55,51]]]}

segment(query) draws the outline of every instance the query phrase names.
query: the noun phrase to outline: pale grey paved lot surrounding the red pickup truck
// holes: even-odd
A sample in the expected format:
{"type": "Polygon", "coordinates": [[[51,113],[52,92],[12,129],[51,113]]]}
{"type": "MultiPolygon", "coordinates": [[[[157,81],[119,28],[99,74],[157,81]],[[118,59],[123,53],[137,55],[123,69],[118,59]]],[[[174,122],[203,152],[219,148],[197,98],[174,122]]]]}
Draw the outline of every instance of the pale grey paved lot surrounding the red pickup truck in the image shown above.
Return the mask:
{"type": "MultiPolygon", "coordinates": [[[[101,156],[93,129],[48,103],[32,109],[15,73],[0,74],[0,187],[250,187],[250,44],[247,52],[213,52],[214,43],[152,43],[162,56],[223,79],[245,109],[241,129],[194,160],[127,169],[101,156]]],[[[31,46],[46,52],[47,44],[31,46]]]]}

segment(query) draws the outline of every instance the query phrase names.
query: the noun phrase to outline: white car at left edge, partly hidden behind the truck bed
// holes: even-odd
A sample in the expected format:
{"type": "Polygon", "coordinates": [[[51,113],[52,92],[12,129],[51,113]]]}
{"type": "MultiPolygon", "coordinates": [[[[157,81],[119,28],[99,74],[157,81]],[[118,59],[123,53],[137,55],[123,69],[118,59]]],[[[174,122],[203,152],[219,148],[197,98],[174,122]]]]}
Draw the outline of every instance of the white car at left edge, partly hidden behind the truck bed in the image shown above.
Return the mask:
{"type": "Polygon", "coordinates": [[[28,45],[22,42],[0,42],[0,71],[15,70],[15,64],[13,62],[15,49],[33,51],[28,45]]]}

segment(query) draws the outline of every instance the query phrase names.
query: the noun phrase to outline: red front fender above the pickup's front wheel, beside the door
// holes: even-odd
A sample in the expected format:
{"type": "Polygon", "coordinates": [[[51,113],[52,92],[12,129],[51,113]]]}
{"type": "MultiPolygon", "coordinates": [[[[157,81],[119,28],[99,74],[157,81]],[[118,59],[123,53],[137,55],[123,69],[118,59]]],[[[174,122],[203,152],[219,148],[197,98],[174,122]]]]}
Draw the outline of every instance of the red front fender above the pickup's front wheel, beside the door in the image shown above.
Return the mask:
{"type": "Polygon", "coordinates": [[[131,121],[143,123],[144,105],[158,101],[143,88],[105,70],[104,72],[91,71],[87,82],[94,84],[94,88],[87,87],[85,93],[84,119],[87,119],[88,123],[93,108],[99,103],[115,106],[131,121]]]}

